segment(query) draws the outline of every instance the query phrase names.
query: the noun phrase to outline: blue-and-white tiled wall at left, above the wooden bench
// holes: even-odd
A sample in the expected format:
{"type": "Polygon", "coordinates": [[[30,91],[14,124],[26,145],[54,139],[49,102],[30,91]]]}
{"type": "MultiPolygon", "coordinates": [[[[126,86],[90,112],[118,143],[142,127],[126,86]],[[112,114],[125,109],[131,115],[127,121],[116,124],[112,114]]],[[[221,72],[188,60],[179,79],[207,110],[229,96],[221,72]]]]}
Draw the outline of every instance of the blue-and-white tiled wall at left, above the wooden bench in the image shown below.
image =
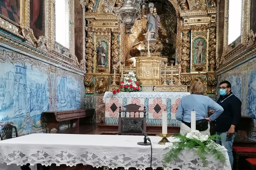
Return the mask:
{"type": "Polygon", "coordinates": [[[41,113],[84,107],[83,75],[0,46],[0,127],[19,135],[45,132],[41,113]]]}

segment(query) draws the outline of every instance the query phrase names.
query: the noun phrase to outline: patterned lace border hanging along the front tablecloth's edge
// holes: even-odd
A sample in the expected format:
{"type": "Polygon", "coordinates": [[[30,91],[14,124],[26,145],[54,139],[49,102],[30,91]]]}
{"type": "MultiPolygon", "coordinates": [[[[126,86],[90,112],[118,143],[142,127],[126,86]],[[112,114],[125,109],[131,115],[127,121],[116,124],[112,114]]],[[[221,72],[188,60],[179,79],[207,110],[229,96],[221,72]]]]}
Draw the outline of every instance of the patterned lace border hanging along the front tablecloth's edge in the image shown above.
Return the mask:
{"type": "MultiPolygon", "coordinates": [[[[107,166],[110,168],[124,167],[125,169],[130,167],[135,167],[137,169],[145,169],[150,166],[150,154],[135,154],[119,152],[93,152],[82,149],[74,150],[63,150],[63,149],[30,149],[30,150],[20,150],[20,149],[3,149],[0,154],[0,163],[17,164],[17,165],[26,165],[30,163],[32,166],[35,164],[42,165],[51,165],[65,164],[67,166],[75,166],[77,164],[83,165],[92,165],[93,167],[102,167],[107,166]],[[111,155],[114,154],[114,155],[111,155]]],[[[193,153],[188,152],[185,156],[181,156],[179,159],[176,159],[172,164],[167,165],[167,168],[184,168],[184,169],[231,169],[228,164],[220,164],[214,162],[214,158],[209,156],[208,167],[205,167],[203,163],[197,158],[193,153]]],[[[154,153],[153,149],[153,158],[152,158],[152,167],[162,167],[163,162],[163,152],[154,153]]]]}

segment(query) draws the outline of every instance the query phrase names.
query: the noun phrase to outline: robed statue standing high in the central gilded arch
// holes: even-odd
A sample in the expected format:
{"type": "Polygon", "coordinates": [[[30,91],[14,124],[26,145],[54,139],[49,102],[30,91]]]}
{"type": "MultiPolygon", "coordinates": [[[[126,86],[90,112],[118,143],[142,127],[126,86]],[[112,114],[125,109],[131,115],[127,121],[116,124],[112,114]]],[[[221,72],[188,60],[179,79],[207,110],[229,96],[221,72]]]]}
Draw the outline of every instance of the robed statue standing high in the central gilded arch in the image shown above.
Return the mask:
{"type": "Polygon", "coordinates": [[[149,14],[144,15],[147,21],[147,31],[151,33],[151,39],[156,39],[158,28],[160,24],[160,17],[156,13],[156,8],[154,8],[154,3],[149,3],[149,14]]]}

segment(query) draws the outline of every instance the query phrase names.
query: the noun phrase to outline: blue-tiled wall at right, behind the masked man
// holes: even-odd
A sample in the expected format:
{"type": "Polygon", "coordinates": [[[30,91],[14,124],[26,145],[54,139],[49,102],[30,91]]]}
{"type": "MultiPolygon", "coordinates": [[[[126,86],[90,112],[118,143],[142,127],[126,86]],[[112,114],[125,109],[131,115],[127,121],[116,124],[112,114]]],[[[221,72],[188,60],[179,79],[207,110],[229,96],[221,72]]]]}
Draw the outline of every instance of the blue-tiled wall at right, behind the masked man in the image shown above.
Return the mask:
{"type": "Polygon", "coordinates": [[[251,139],[256,141],[256,58],[238,65],[218,76],[218,85],[223,80],[231,83],[233,94],[242,101],[242,115],[252,116],[254,130],[251,139]]]}

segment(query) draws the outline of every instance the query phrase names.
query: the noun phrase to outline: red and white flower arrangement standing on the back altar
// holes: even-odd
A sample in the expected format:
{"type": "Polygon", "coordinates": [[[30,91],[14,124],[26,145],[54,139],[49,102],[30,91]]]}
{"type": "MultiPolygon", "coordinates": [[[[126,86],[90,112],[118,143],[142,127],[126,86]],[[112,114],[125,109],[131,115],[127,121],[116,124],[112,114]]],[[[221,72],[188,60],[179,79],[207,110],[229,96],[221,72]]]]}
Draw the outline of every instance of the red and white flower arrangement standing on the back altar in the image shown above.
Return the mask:
{"type": "Polygon", "coordinates": [[[126,92],[141,91],[140,85],[141,83],[137,81],[137,78],[134,72],[129,72],[124,77],[124,80],[120,82],[119,89],[114,90],[113,94],[115,95],[117,92],[120,92],[120,91],[126,91],[126,92]]]}

